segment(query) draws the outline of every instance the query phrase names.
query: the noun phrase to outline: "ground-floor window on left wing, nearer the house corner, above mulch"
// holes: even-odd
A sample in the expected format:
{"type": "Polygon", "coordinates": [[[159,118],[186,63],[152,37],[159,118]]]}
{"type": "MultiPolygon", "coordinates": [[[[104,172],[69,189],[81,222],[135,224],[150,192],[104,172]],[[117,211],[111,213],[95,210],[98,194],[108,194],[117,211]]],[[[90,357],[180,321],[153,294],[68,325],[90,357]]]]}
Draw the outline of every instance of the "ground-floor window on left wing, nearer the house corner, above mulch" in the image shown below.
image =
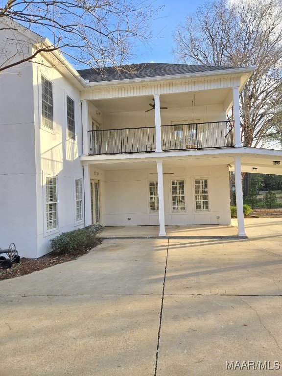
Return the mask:
{"type": "Polygon", "coordinates": [[[58,226],[56,177],[46,178],[46,204],[47,230],[53,230],[58,226]]]}

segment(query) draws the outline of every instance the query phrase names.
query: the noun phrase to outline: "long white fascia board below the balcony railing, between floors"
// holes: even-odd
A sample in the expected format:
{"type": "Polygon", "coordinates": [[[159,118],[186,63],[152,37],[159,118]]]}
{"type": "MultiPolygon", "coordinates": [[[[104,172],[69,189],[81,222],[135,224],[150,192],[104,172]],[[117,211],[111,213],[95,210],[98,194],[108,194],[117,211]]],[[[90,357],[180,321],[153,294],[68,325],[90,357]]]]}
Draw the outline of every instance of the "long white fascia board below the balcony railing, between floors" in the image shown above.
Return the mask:
{"type": "Polygon", "coordinates": [[[277,157],[282,160],[282,150],[269,150],[269,149],[258,149],[251,147],[233,147],[233,148],[222,148],[222,149],[201,149],[201,150],[183,150],[183,151],[163,151],[163,152],[153,152],[153,153],[139,153],[136,154],[113,154],[113,155],[87,155],[80,156],[80,161],[83,164],[87,163],[117,163],[120,162],[141,162],[142,160],[156,161],[160,159],[178,159],[179,157],[187,158],[209,158],[216,156],[249,156],[258,157],[269,156],[277,157]]]}

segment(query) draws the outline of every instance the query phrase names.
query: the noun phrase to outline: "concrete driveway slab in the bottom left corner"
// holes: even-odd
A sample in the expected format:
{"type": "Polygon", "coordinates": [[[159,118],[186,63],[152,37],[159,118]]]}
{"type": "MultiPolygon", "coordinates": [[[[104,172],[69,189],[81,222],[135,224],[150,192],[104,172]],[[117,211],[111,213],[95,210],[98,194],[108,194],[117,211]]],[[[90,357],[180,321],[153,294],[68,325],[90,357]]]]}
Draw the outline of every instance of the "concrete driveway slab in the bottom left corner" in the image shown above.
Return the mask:
{"type": "Polygon", "coordinates": [[[1,376],[153,376],[161,300],[0,298],[1,376]]]}

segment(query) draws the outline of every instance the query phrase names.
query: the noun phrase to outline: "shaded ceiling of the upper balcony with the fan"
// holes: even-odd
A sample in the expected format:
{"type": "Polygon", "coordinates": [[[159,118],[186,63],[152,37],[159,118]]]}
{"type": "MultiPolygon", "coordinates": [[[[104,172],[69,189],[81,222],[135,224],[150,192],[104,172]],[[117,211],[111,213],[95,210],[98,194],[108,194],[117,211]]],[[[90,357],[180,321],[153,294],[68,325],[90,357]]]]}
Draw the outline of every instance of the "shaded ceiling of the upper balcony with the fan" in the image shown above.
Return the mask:
{"type": "MultiPolygon", "coordinates": [[[[174,93],[161,95],[161,107],[179,108],[201,105],[215,105],[224,102],[230,89],[202,90],[188,93],[174,93]]],[[[152,95],[134,96],[115,99],[93,100],[92,103],[102,113],[146,111],[152,102],[152,95]]],[[[152,112],[151,112],[152,113],[152,112]]]]}

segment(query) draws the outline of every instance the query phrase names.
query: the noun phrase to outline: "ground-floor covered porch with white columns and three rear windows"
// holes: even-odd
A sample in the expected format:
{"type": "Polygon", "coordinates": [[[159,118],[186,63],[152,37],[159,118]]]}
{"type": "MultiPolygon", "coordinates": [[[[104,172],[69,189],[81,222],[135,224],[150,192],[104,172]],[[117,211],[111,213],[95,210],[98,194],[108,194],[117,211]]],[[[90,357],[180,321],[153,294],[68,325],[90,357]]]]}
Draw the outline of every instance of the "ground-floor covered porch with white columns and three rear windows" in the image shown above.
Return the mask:
{"type": "Polygon", "coordinates": [[[244,238],[241,172],[255,167],[258,173],[282,174],[277,150],[170,153],[83,157],[86,225],[103,224],[105,237],[244,238]],[[230,170],[235,170],[237,229],[231,226],[230,170]]]}

